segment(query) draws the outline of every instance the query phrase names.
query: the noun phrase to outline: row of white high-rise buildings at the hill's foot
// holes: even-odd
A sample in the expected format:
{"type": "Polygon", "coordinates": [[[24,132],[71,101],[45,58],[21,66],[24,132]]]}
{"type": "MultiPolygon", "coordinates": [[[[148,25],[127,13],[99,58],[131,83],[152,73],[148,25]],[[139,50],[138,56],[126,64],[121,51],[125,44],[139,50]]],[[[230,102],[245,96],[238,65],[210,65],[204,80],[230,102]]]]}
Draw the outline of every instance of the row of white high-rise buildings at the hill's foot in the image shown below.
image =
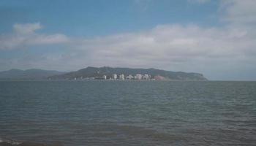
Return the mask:
{"type": "Polygon", "coordinates": [[[135,74],[135,76],[132,76],[132,74],[127,75],[126,77],[124,74],[112,74],[112,77],[107,78],[107,75],[102,76],[103,80],[151,80],[150,74],[135,74]]]}

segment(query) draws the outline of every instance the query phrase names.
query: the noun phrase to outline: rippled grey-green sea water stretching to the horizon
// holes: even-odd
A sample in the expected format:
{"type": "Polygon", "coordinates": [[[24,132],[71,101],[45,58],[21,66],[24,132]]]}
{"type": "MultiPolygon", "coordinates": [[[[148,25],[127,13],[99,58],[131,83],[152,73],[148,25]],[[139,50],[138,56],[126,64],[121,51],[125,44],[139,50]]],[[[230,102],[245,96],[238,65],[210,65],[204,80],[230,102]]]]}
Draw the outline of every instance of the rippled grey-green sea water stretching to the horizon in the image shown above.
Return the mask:
{"type": "Polygon", "coordinates": [[[256,82],[0,82],[0,137],[65,146],[256,145],[256,82]]]}

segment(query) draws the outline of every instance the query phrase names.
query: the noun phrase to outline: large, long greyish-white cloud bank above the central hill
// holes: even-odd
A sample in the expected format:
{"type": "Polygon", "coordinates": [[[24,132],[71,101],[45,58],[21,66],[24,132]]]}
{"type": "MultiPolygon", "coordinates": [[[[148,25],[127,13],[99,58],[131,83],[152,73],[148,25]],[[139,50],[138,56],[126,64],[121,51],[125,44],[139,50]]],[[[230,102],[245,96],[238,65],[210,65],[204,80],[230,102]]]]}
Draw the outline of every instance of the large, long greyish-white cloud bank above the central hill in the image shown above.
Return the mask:
{"type": "Polygon", "coordinates": [[[184,61],[240,61],[241,56],[255,52],[254,38],[246,29],[164,25],[150,31],[83,39],[72,48],[104,65],[166,68],[184,61]]]}

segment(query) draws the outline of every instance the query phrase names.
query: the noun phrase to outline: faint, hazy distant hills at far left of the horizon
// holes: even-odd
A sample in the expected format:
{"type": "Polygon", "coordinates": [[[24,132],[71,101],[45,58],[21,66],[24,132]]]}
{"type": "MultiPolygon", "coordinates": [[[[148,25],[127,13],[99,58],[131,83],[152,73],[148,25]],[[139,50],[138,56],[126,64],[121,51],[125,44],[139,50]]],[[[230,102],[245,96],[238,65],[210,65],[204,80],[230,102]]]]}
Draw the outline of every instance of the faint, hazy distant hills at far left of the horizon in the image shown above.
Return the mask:
{"type": "Polygon", "coordinates": [[[43,80],[50,76],[64,73],[65,72],[42,69],[10,69],[8,71],[0,72],[0,80],[43,80]]]}

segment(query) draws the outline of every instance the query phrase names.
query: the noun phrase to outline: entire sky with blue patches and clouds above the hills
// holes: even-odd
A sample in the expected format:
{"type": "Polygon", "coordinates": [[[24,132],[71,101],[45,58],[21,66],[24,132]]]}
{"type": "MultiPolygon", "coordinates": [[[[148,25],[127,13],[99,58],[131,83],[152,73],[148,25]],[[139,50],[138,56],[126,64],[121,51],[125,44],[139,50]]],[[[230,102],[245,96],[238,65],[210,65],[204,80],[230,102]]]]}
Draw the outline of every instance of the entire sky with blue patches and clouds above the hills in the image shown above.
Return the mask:
{"type": "Polygon", "coordinates": [[[1,0],[0,71],[87,66],[256,80],[255,0],[1,0]]]}

